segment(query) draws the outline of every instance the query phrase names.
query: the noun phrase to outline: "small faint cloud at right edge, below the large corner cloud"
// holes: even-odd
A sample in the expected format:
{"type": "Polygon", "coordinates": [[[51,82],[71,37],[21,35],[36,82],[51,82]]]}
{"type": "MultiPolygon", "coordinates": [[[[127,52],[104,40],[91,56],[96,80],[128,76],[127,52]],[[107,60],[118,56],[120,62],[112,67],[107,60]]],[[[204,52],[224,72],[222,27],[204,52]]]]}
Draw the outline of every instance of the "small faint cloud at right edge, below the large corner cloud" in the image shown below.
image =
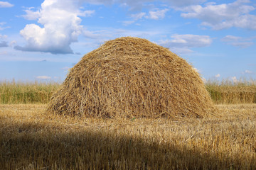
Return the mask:
{"type": "Polygon", "coordinates": [[[237,37],[237,36],[233,36],[233,35],[226,35],[221,40],[223,42],[227,42],[228,45],[245,48],[245,47],[250,47],[251,45],[253,45],[252,39],[254,39],[254,38],[242,38],[242,37],[237,37]]]}

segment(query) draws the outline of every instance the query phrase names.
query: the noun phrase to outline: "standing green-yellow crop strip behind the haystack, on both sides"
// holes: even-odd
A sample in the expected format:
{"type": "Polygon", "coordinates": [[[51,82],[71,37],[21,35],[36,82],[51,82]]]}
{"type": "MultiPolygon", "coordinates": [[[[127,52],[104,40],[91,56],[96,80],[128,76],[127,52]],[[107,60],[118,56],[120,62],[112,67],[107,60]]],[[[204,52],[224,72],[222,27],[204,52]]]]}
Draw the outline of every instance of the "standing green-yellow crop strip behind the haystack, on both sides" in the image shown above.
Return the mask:
{"type": "MultiPolygon", "coordinates": [[[[60,87],[56,82],[0,82],[0,103],[48,103],[60,87]]],[[[206,83],[215,104],[256,103],[256,81],[208,81],[206,83]]]]}

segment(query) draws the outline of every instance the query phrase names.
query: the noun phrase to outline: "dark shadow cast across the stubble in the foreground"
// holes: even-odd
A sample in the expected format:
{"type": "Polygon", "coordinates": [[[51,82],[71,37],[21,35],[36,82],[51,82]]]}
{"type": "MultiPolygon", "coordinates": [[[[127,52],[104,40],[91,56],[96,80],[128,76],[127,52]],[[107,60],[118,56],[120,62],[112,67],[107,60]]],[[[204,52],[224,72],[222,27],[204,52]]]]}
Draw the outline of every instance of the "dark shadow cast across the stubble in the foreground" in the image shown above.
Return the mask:
{"type": "MultiPolygon", "coordinates": [[[[95,129],[11,123],[0,129],[0,169],[241,169],[244,162],[171,142],[95,129]]],[[[1,123],[0,123],[1,125],[1,123]]],[[[247,165],[255,169],[255,165],[247,165]]]]}

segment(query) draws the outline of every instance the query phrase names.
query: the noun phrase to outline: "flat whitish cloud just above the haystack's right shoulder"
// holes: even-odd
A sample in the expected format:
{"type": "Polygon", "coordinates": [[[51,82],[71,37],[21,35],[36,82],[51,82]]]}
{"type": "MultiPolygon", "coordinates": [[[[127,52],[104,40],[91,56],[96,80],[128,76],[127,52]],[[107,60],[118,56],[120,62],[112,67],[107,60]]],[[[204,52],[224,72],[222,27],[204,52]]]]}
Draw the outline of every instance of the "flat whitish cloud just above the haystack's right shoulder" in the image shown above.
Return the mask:
{"type": "Polygon", "coordinates": [[[169,47],[171,51],[176,53],[193,52],[193,47],[206,47],[212,42],[208,35],[172,35],[171,40],[159,40],[159,45],[169,47]]]}

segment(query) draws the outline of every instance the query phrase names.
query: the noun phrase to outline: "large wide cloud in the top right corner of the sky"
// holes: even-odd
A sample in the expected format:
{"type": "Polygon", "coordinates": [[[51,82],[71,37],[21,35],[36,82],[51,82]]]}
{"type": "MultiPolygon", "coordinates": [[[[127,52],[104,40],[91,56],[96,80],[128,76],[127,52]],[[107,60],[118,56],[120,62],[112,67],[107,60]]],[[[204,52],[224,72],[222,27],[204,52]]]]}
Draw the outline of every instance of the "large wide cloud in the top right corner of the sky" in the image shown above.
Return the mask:
{"type": "Polygon", "coordinates": [[[206,6],[187,6],[180,10],[183,18],[198,18],[202,26],[209,26],[215,30],[237,27],[256,30],[256,16],[250,14],[254,6],[247,5],[249,0],[238,0],[230,4],[210,3],[206,6]]]}

